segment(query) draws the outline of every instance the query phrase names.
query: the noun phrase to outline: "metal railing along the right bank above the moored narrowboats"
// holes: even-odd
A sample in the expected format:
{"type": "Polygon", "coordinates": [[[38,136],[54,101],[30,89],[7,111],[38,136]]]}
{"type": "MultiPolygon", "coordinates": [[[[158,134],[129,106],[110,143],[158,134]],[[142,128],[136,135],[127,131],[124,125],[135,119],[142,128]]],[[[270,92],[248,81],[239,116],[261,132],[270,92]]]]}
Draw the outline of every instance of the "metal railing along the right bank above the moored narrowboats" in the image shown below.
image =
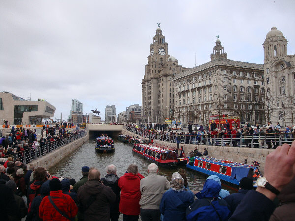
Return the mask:
{"type": "MultiPolygon", "coordinates": [[[[176,143],[176,135],[170,132],[149,131],[125,125],[125,130],[144,138],[176,143]]],[[[181,144],[232,146],[249,148],[276,148],[284,143],[291,145],[295,140],[295,133],[247,134],[247,135],[179,135],[181,144]]]]}

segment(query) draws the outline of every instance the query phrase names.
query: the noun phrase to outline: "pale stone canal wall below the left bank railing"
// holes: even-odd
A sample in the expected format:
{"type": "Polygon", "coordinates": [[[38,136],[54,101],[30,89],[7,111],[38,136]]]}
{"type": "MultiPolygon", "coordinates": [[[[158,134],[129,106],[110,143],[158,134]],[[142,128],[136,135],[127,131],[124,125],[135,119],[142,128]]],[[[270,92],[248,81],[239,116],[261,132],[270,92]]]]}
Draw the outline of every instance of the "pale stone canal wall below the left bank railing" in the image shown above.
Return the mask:
{"type": "Polygon", "coordinates": [[[70,155],[74,150],[78,147],[82,146],[87,140],[89,140],[89,131],[86,131],[86,135],[83,138],[77,139],[55,151],[46,154],[36,160],[33,160],[30,165],[31,166],[42,166],[45,169],[50,169],[51,167],[55,166],[59,161],[63,158],[70,155]]]}

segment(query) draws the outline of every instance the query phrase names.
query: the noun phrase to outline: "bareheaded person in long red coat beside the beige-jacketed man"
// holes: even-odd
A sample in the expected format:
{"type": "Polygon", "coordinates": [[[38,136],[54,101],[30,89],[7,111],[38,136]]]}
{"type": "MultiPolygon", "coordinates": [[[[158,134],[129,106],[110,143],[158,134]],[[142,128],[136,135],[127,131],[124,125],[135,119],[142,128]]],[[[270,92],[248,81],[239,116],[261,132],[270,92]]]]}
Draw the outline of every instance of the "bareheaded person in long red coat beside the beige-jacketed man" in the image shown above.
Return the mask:
{"type": "Polygon", "coordinates": [[[118,180],[121,189],[119,211],[123,221],[137,221],[140,214],[139,200],[141,198],[140,180],[144,178],[138,173],[136,164],[130,164],[127,173],[118,180]]]}

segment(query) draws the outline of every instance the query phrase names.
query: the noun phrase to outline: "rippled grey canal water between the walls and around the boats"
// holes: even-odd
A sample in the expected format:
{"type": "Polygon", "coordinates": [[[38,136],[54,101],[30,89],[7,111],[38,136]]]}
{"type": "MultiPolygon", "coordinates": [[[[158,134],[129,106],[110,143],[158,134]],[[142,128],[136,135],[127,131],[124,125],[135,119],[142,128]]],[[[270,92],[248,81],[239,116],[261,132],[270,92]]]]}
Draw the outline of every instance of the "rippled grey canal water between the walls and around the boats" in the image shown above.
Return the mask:
{"type": "MultiPolygon", "coordinates": [[[[49,172],[58,177],[71,177],[78,181],[82,177],[81,168],[83,166],[98,168],[100,170],[101,177],[104,177],[107,174],[106,166],[114,164],[117,167],[117,176],[120,177],[124,175],[127,167],[131,163],[136,163],[139,173],[144,177],[148,176],[148,164],[150,164],[150,162],[133,154],[131,144],[122,143],[115,139],[115,153],[96,153],[94,150],[95,143],[95,139],[90,139],[67,158],[61,160],[56,166],[51,168],[49,172]]],[[[185,166],[182,168],[185,169],[185,166]]],[[[174,172],[177,172],[177,169],[173,170],[159,167],[158,174],[165,176],[169,181],[171,181],[171,176],[174,172]]],[[[202,190],[207,177],[194,173],[190,170],[186,170],[186,176],[191,190],[202,190]]],[[[227,189],[224,186],[222,186],[222,188],[227,189]]],[[[232,189],[227,190],[229,190],[230,193],[235,192],[232,189]]]]}

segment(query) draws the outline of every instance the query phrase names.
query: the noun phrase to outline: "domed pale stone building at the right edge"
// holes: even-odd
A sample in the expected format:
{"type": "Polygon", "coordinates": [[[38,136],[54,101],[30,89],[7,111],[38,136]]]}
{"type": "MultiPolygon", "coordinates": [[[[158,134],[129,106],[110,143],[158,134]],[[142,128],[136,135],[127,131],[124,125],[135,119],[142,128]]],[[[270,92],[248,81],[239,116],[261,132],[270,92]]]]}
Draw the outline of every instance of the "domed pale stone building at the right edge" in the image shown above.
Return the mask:
{"type": "Polygon", "coordinates": [[[272,27],[266,35],[264,72],[266,83],[266,122],[284,126],[295,124],[295,55],[287,54],[288,41],[272,27]]]}

